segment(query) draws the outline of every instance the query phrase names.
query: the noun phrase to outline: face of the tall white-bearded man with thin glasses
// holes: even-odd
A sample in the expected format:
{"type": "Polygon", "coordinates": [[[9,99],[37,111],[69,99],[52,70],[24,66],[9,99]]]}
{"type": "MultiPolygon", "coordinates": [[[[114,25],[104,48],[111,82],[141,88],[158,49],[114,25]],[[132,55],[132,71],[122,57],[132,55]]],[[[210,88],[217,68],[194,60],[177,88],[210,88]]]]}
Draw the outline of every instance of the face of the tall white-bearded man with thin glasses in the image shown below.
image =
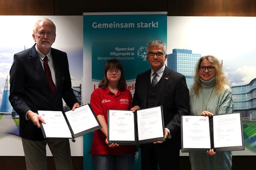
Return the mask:
{"type": "Polygon", "coordinates": [[[55,41],[56,34],[50,23],[47,21],[42,21],[37,25],[36,31],[32,36],[39,51],[46,55],[50,51],[51,45],[55,41]]]}

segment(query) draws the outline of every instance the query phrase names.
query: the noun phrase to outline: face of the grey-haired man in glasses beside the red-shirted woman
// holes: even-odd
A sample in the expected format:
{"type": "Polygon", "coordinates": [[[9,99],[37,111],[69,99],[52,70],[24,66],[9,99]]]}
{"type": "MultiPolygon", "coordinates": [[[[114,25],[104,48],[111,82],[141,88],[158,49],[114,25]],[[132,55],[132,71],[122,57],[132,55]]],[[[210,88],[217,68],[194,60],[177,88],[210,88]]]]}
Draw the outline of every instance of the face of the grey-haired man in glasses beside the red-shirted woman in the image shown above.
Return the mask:
{"type": "Polygon", "coordinates": [[[147,54],[150,53],[163,53],[163,56],[158,57],[157,55],[154,55],[153,57],[149,57],[147,55],[147,60],[149,61],[149,64],[151,65],[151,68],[156,72],[160,68],[164,66],[164,61],[167,58],[167,55],[164,53],[163,47],[161,46],[150,46],[148,48],[147,54]]]}

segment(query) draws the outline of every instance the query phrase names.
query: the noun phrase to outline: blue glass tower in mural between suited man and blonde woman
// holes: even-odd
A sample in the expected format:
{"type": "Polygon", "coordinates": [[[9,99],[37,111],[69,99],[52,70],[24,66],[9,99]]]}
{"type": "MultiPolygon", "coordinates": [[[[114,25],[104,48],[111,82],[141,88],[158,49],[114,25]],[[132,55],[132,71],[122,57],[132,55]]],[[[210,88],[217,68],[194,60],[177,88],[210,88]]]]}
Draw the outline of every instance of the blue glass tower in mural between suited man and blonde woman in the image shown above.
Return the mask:
{"type": "Polygon", "coordinates": [[[194,82],[195,65],[200,54],[193,54],[192,50],[173,49],[167,57],[167,67],[183,74],[186,77],[186,84],[189,87],[194,82]]]}

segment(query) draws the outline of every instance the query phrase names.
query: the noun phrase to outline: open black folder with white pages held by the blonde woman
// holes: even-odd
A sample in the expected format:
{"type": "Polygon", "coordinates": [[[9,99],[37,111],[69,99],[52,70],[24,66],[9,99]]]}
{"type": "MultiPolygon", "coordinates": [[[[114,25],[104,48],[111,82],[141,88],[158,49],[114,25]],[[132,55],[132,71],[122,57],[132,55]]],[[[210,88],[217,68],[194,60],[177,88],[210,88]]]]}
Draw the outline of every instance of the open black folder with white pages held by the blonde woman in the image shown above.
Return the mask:
{"type": "Polygon", "coordinates": [[[241,113],[182,115],[182,152],[244,150],[241,113]]]}

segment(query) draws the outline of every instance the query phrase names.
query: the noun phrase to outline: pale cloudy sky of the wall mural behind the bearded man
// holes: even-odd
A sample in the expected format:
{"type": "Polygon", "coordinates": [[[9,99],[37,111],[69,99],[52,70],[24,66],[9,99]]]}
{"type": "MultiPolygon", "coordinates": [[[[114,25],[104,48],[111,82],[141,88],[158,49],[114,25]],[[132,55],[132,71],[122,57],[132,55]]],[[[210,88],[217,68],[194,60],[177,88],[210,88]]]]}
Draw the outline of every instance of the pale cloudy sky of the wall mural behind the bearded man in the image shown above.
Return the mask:
{"type": "MultiPolygon", "coordinates": [[[[13,62],[13,55],[30,48],[35,42],[32,30],[37,20],[51,19],[56,25],[56,40],[52,47],[65,51],[69,57],[70,75],[75,86],[83,77],[83,18],[77,16],[0,16],[0,103],[13,62]],[[4,25],[3,25],[4,23],[4,25]]],[[[72,83],[73,83],[72,82],[72,83]]]]}

